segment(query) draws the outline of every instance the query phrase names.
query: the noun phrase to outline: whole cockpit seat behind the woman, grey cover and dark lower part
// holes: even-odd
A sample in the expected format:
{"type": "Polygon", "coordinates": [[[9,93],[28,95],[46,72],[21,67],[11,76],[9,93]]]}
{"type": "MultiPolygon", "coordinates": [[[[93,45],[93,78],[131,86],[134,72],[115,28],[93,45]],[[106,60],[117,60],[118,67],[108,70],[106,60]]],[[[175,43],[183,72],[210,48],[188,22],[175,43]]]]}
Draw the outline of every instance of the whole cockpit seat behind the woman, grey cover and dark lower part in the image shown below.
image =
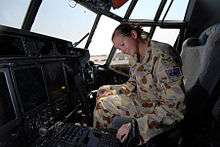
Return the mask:
{"type": "Polygon", "coordinates": [[[213,114],[220,113],[213,110],[220,96],[220,24],[185,40],[181,58],[186,91],[182,146],[212,146],[213,114]]]}

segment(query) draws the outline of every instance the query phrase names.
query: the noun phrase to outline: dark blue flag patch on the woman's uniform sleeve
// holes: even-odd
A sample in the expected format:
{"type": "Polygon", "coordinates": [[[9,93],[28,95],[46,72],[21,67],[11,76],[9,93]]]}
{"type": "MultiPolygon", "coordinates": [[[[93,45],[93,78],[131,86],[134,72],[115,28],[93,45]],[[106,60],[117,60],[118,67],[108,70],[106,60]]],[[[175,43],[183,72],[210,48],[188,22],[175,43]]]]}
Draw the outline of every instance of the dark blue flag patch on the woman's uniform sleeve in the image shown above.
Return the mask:
{"type": "Polygon", "coordinates": [[[181,77],[183,75],[180,67],[175,67],[175,68],[172,68],[172,69],[167,69],[166,73],[168,75],[168,78],[171,81],[176,81],[176,80],[179,79],[179,77],[181,77]]]}

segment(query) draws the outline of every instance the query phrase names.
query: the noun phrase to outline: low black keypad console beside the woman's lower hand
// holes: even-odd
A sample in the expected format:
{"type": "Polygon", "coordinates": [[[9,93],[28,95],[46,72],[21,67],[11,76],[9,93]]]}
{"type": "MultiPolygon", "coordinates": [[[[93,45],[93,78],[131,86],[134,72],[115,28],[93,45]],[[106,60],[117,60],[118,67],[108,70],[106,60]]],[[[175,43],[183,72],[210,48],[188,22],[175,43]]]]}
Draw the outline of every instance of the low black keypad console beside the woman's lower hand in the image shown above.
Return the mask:
{"type": "Polygon", "coordinates": [[[73,124],[58,123],[34,147],[120,147],[116,130],[98,130],[73,124]]]}

